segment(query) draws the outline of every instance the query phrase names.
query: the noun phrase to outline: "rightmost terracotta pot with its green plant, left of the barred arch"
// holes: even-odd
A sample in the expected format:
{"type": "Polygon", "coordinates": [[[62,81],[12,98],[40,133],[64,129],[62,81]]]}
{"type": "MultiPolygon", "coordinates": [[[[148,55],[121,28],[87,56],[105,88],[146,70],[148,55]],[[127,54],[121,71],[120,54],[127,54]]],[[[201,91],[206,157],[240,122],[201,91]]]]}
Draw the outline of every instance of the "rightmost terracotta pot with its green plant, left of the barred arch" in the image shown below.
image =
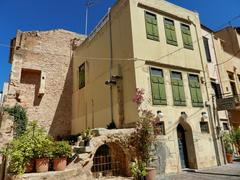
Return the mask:
{"type": "Polygon", "coordinates": [[[71,156],[72,147],[66,141],[57,141],[53,148],[53,169],[63,171],[67,166],[67,158],[71,156]]]}

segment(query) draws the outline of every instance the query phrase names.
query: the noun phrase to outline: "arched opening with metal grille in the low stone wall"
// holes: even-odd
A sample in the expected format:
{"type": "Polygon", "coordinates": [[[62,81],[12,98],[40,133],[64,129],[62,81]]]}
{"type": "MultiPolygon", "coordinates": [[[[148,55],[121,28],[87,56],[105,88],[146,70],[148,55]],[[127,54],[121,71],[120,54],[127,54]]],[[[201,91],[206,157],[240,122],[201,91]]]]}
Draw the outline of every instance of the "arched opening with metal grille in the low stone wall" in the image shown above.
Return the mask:
{"type": "Polygon", "coordinates": [[[94,177],[99,176],[128,176],[127,154],[123,148],[114,142],[109,142],[97,148],[93,157],[91,171],[94,177]]]}

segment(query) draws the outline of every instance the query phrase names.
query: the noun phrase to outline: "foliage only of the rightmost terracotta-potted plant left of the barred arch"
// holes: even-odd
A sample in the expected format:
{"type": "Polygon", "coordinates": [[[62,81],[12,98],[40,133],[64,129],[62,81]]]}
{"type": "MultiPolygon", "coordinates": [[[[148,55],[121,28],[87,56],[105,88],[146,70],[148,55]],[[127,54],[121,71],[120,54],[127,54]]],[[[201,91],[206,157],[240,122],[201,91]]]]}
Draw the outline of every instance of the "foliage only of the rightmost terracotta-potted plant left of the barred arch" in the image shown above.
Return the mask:
{"type": "Polygon", "coordinates": [[[69,157],[72,153],[72,147],[66,141],[56,141],[53,144],[53,157],[69,157]]]}

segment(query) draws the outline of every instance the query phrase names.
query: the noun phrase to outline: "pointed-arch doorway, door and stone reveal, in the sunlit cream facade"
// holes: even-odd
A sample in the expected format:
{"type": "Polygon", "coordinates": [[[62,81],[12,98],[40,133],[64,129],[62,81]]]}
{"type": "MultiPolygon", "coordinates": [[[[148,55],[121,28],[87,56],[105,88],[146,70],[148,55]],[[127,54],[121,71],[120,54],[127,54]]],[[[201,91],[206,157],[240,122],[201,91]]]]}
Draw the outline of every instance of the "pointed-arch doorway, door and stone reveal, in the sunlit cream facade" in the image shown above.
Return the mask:
{"type": "Polygon", "coordinates": [[[180,123],[177,126],[177,141],[181,168],[197,168],[195,147],[193,142],[192,129],[189,124],[180,123]]]}

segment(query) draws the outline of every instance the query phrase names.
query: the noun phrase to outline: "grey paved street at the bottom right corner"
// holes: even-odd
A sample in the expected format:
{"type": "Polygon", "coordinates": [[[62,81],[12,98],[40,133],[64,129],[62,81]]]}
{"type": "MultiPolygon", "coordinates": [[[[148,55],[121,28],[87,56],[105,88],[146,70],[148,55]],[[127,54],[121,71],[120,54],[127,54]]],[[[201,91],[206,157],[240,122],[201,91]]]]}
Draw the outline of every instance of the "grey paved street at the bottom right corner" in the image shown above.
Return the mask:
{"type": "Polygon", "coordinates": [[[159,177],[158,180],[240,180],[240,162],[230,165],[159,177]]]}

